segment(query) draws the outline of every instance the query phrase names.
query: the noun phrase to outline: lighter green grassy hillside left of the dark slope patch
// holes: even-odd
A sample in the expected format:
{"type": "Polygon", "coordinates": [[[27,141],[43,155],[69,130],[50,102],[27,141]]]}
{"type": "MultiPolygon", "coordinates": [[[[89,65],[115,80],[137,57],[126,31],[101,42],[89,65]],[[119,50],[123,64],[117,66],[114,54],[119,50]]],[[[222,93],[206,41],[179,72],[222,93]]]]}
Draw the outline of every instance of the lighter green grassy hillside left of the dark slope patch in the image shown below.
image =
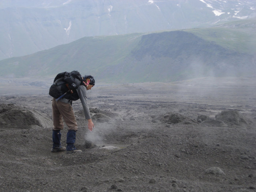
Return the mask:
{"type": "Polygon", "coordinates": [[[140,34],[84,37],[31,55],[1,60],[0,76],[49,76],[58,71],[74,69],[86,73],[88,68],[99,73],[103,68],[123,60],[131,52],[139,36],[140,34]]]}

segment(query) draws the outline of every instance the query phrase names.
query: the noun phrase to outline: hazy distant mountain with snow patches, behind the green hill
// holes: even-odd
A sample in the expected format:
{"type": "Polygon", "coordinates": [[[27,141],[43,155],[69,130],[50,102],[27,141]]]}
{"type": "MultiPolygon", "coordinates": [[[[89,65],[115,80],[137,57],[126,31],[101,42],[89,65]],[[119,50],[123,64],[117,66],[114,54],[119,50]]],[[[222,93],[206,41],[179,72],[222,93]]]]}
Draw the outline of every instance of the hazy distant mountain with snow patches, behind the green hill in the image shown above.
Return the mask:
{"type": "Polygon", "coordinates": [[[1,0],[0,60],[82,37],[221,25],[256,18],[254,0],[1,0]]]}

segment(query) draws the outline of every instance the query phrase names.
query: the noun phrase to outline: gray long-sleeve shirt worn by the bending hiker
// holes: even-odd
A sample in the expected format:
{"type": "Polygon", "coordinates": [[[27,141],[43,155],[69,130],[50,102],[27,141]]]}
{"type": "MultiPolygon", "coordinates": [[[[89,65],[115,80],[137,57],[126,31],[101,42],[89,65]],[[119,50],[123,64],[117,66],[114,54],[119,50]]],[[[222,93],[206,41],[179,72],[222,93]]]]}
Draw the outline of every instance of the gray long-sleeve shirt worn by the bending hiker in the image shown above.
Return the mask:
{"type": "MultiPolygon", "coordinates": [[[[80,85],[77,89],[76,89],[78,95],[79,95],[79,99],[82,103],[83,106],[83,112],[84,112],[84,116],[86,119],[91,119],[91,115],[90,115],[90,110],[89,110],[89,106],[87,103],[87,94],[86,94],[86,87],[83,85],[80,85]]],[[[64,103],[69,103],[70,100],[69,99],[60,99],[61,102],[64,103]]]]}

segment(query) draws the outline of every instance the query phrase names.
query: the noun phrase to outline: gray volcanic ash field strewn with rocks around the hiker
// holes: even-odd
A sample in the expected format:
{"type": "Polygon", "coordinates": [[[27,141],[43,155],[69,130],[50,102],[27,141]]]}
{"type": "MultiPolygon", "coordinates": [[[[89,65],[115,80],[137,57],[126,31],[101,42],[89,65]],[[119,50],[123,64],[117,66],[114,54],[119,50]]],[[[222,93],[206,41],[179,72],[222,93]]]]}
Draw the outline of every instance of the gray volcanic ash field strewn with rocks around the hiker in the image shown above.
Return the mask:
{"type": "MultiPolygon", "coordinates": [[[[199,78],[96,85],[88,94],[92,132],[80,101],[72,105],[77,154],[50,152],[47,89],[2,84],[0,191],[256,191],[255,84],[199,78]]],[[[66,126],[61,133],[65,146],[66,126]]]]}

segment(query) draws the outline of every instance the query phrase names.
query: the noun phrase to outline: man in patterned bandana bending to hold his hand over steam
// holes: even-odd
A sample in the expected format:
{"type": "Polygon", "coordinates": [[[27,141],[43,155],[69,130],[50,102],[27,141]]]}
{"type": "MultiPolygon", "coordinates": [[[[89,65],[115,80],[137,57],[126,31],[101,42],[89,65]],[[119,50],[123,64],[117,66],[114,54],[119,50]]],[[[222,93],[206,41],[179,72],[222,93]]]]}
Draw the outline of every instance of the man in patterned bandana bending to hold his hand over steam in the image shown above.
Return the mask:
{"type": "MultiPolygon", "coordinates": [[[[75,71],[79,74],[78,71],[75,71]]],[[[72,73],[72,72],[71,72],[72,73]]],[[[75,114],[72,109],[72,100],[80,99],[84,116],[88,121],[88,129],[90,131],[93,130],[94,124],[91,120],[89,106],[87,104],[87,90],[90,90],[95,85],[95,80],[91,75],[85,75],[84,77],[75,78],[74,83],[76,83],[77,88],[74,90],[69,90],[68,94],[65,94],[61,99],[52,99],[52,114],[53,114],[53,148],[52,152],[60,152],[67,150],[68,153],[82,152],[81,150],[77,150],[75,147],[76,140],[76,131],[78,130],[78,125],[76,123],[75,114]],[[73,93],[74,91],[74,93],[73,93]],[[72,94],[71,94],[71,93],[72,94]],[[75,95],[75,96],[74,96],[75,95]],[[75,98],[74,98],[75,97],[75,98]],[[62,147],[60,143],[61,133],[60,130],[63,129],[63,119],[66,125],[68,126],[67,132],[67,148],[62,147]]],[[[68,88],[69,89],[69,88],[68,88]]]]}

